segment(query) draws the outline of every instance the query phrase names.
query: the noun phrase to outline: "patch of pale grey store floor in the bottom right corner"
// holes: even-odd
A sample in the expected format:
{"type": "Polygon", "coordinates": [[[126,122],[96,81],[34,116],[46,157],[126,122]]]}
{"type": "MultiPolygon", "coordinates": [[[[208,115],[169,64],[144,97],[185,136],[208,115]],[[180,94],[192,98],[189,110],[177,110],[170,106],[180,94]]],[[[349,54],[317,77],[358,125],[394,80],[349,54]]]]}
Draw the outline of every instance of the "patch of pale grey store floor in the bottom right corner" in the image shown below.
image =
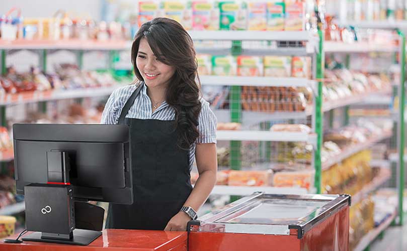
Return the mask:
{"type": "Polygon", "coordinates": [[[404,251],[407,250],[407,224],[390,226],[384,231],[383,239],[377,239],[371,245],[370,251],[404,251]]]}

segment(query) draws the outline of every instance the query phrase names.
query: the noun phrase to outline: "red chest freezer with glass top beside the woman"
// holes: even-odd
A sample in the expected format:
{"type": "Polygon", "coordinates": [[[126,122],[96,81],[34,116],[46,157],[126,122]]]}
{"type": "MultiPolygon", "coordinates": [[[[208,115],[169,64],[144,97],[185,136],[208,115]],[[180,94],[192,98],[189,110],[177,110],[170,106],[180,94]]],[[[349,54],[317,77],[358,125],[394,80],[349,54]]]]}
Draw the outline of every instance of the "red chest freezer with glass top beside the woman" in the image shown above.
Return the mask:
{"type": "Polygon", "coordinates": [[[188,224],[190,251],[348,251],[349,195],[254,193],[188,224]]]}

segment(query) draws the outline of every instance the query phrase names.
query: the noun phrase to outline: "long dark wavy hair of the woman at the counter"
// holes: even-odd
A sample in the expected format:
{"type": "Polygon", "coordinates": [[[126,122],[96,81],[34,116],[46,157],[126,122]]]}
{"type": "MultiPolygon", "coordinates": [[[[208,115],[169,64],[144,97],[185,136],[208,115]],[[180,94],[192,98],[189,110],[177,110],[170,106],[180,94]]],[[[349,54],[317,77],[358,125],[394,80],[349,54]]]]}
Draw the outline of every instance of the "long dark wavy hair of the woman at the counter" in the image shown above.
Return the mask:
{"type": "Polygon", "coordinates": [[[131,62],[138,80],[143,78],[137,69],[136,58],[142,38],[146,38],[154,56],[176,71],[166,90],[166,101],[175,109],[178,146],[187,150],[199,137],[198,116],[201,112],[200,82],[194,44],[185,29],[168,18],[155,18],[138,30],[131,47],[131,62]]]}

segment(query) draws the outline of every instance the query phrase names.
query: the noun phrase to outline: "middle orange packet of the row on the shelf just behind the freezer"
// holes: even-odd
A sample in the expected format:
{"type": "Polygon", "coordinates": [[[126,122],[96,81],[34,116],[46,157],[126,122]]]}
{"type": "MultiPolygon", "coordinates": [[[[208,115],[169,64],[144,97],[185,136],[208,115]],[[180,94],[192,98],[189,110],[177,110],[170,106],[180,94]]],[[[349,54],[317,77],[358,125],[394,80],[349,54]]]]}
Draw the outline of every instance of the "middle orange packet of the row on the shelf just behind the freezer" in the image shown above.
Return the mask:
{"type": "Polygon", "coordinates": [[[230,171],[229,186],[271,186],[273,171],[230,171]]]}

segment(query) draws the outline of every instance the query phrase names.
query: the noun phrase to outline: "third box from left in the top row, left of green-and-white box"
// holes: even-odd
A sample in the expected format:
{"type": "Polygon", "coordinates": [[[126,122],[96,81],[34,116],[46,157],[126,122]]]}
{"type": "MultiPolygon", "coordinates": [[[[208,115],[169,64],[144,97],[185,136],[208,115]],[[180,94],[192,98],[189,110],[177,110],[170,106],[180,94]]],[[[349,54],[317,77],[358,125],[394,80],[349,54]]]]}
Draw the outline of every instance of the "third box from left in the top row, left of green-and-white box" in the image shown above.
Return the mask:
{"type": "Polygon", "coordinates": [[[219,30],[219,4],[209,1],[195,1],[192,3],[193,30],[219,30]]]}

